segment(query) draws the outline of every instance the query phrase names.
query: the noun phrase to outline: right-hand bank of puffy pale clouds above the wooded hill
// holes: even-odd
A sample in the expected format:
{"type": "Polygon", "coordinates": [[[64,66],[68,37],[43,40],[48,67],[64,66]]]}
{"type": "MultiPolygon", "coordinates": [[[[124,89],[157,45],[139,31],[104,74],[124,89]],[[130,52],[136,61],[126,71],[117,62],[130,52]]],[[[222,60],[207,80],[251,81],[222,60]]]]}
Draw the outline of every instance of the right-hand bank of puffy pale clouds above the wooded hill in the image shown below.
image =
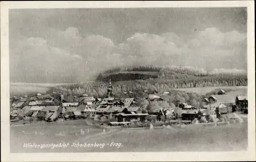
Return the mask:
{"type": "Polygon", "coordinates": [[[117,53],[129,56],[126,60],[134,60],[135,64],[197,66],[213,70],[215,67],[233,68],[236,62],[237,68],[246,68],[245,41],[245,34],[222,33],[216,28],[183,38],[175,33],[135,33],[117,45],[117,53]],[[226,62],[227,59],[230,61],[226,62]]]}

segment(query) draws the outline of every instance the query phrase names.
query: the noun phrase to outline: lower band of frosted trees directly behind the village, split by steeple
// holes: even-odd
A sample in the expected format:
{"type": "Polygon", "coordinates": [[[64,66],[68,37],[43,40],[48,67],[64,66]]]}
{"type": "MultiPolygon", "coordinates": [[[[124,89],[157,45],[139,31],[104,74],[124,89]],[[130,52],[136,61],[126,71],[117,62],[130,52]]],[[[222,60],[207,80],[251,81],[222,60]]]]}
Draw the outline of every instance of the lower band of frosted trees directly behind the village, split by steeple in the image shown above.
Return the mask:
{"type": "MultiPolygon", "coordinates": [[[[187,80],[160,80],[160,79],[148,79],[148,80],[132,80],[132,81],[120,81],[113,84],[113,91],[116,95],[122,95],[123,92],[127,92],[128,95],[134,97],[140,97],[139,95],[144,90],[148,92],[152,91],[170,91],[173,88],[190,88],[190,87],[215,87],[215,86],[244,86],[247,85],[247,78],[198,78],[187,80]],[[132,91],[133,94],[130,94],[132,91]]],[[[56,86],[50,89],[50,93],[63,92],[64,95],[82,95],[88,94],[97,98],[103,97],[107,93],[108,83],[105,82],[90,82],[83,84],[72,84],[64,86],[56,86]]]]}

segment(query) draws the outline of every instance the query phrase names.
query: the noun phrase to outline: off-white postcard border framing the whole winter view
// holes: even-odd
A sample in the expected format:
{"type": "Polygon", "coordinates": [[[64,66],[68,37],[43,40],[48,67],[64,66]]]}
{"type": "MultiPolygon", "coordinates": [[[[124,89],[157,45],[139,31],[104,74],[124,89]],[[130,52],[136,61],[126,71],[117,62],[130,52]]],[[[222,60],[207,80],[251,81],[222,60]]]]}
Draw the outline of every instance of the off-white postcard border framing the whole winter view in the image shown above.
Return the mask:
{"type": "Polygon", "coordinates": [[[254,1],[177,2],[1,2],[1,154],[2,161],[233,161],[255,160],[254,1]],[[10,153],[9,9],[25,8],[139,8],[247,7],[248,151],[241,152],[124,152],[124,153],[10,153]]]}

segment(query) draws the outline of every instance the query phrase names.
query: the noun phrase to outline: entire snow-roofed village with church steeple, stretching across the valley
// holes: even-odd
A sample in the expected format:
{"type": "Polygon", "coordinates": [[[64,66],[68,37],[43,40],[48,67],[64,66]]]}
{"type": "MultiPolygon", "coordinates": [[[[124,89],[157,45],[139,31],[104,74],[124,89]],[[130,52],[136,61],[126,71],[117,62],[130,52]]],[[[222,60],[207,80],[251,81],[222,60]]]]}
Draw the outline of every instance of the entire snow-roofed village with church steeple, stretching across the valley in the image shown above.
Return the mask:
{"type": "MultiPolygon", "coordinates": [[[[164,94],[168,94],[165,91],[164,94]]],[[[216,95],[224,95],[220,90],[216,95]]],[[[227,121],[225,114],[240,111],[248,113],[247,96],[237,96],[235,103],[224,104],[212,95],[203,100],[203,107],[194,107],[187,103],[179,103],[176,107],[162,106],[153,111],[144,111],[136,104],[135,98],[114,98],[113,85],[109,82],[108,97],[94,98],[83,94],[75,98],[75,102],[68,102],[63,95],[55,99],[49,95],[37,94],[33,97],[12,97],[10,99],[11,123],[23,121],[23,124],[36,121],[63,122],[77,119],[90,119],[93,122],[109,126],[146,127],[150,124],[161,126],[164,124],[215,123],[227,121]],[[148,124],[150,123],[150,124],[148,124]]],[[[146,98],[148,102],[162,102],[156,94],[146,98]]]]}

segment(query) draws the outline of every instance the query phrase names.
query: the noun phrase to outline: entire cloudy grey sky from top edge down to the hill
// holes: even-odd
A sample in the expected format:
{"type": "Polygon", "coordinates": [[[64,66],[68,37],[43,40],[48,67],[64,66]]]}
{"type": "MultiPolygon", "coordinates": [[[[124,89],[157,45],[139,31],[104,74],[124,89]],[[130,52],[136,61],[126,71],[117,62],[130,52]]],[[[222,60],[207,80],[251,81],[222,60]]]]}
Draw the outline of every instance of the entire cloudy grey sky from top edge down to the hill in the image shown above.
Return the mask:
{"type": "Polygon", "coordinates": [[[15,9],[11,82],[84,82],[116,66],[247,69],[244,8],[15,9]]]}

